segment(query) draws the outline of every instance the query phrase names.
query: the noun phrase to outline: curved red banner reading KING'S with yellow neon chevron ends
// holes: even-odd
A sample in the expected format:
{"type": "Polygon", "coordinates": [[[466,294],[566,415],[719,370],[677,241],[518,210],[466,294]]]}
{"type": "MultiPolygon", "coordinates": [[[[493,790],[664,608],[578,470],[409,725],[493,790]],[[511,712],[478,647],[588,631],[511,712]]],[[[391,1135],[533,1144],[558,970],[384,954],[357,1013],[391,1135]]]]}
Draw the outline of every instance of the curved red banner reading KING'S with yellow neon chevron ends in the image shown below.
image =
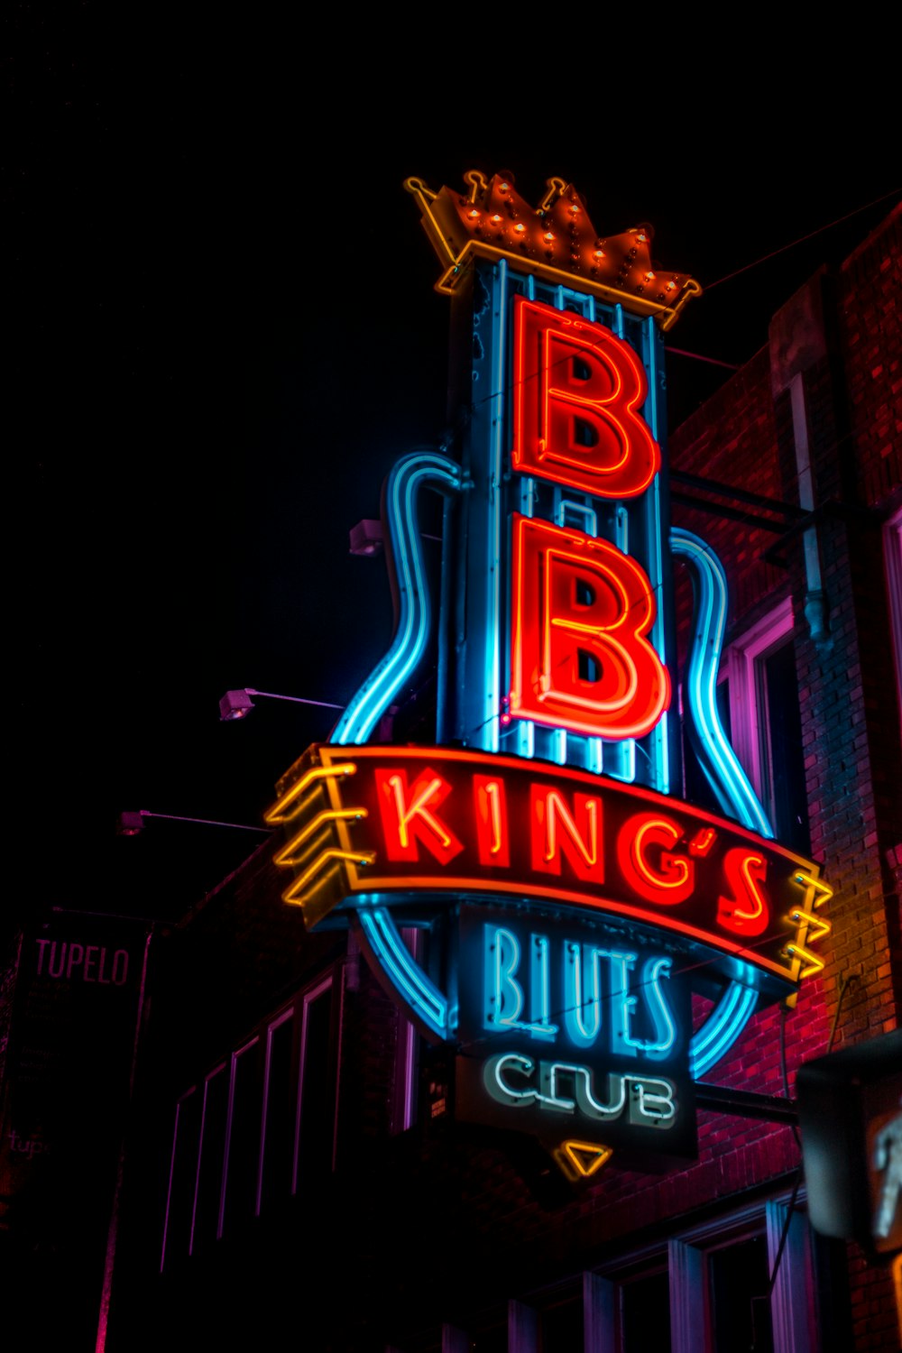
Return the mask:
{"type": "Polygon", "coordinates": [[[826,927],[817,865],[634,785],[445,747],[321,744],[298,771],[270,821],[308,924],[357,898],[527,896],[672,932],[723,973],[741,959],[759,988],[798,980],[826,927]]]}

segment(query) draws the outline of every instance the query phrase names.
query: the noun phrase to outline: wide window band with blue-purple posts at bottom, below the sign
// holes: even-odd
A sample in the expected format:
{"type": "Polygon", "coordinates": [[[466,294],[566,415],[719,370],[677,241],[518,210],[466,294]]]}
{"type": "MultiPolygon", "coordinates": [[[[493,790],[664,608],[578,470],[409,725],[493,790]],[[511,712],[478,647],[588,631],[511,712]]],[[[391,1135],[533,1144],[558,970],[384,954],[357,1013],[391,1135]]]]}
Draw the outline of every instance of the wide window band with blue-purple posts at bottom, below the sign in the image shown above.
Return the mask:
{"type": "MultiPolygon", "coordinates": [[[[844,1245],[805,1191],[734,1206],[596,1270],[402,1334],[407,1353],[838,1353],[851,1348],[844,1245]]],[[[438,1321],[438,1314],[434,1315],[438,1321]]]]}

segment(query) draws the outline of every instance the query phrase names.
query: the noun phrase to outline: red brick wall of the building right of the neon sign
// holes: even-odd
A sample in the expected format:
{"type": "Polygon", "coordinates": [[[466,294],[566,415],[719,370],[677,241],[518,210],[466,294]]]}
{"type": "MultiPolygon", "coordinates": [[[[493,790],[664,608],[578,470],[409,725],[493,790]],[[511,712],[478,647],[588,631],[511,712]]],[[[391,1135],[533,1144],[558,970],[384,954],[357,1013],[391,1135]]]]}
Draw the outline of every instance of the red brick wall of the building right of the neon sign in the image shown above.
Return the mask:
{"type": "MultiPolygon", "coordinates": [[[[826,967],[803,985],[786,1022],[790,1095],[799,1062],[826,1050],[834,1020],[838,1047],[893,1030],[899,1017],[899,900],[887,863],[899,840],[899,725],[880,534],[902,478],[899,225],[897,208],[847,261],[838,281],[825,285],[826,304],[834,302],[826,314],[830,350],[805,372],[815,503],[830,505],[818,529],[832,645],[818,647],[807,635],[798,544],[780,549],[782,575],[768,572],[760,551],[771,541],[761,533],[706,522],[679,502],[673,507],[676,524],[707,538],[726,566],[728,640],[784,595],[792,598],[811,852],[824,862],[834,896],[826,967]]],[[[769,386],[761,352],[671,438],[673,467],[798,502],[788,395],[774,400],[769,386]]],[[[686,580],[679,586],[684,621],[686,580]]],[[[757,1016],[714,1078],[783,1093],[779,1020],[778,1011],[757,1016]]],[[[683,1185],[696,1204],[713,1188],[738,1188],[798,1161],[784,1128],[737,1132],[736,1123],[705,1115],[699,1145],[699,1166],[683,1185]]],[[[680,1181],[668,1180],[661,1199],[675,1189],[680,1181]]],[[[895,1348],[888,1275],[856,1246],[849,1252],[855,1346],[895,1348]]]]}

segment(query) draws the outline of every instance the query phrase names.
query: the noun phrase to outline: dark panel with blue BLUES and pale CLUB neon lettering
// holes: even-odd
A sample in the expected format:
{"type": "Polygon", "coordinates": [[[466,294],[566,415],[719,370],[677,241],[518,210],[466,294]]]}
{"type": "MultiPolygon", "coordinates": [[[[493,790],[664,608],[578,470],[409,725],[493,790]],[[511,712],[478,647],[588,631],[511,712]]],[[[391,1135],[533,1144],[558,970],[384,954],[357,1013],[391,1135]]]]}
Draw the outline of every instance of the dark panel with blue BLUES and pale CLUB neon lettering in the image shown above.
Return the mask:
{"type": "Polygon", "coordinates": [[[609,1149],[694,1154],[684,958],[636,939],[538,908],[461,909],[456,1096],[471,1120],[513,1114],[552,1151],[600,1131],[609,1149]]]}

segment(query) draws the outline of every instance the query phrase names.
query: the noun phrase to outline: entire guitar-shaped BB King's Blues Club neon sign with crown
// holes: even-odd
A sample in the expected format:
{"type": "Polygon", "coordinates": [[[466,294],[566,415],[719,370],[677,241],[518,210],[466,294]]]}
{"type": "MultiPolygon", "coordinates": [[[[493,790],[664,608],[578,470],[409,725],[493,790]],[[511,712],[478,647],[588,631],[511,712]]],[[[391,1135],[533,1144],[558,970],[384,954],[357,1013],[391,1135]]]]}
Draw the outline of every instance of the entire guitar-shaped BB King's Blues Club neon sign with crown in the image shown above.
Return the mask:
{"type": "Polygon", "coordinates": [[[383,660],[277,786],[304,924],[352,924],[391,997],[454,1046],[458,1118],[538,1137],[571,1178],[694,1150],[692,1082],[822,966],[830,889],[776,843],[717,709],[726,579],[667,522],[661,334],[698,295],[650,227],[599,238],[572,185],[406,187],[442,261],[454,457],[384,492],[383,660]],[[445,499],[434,620],[419,530],[445,499]],[[672,559],[694,589],[682,718],[723,816],[684,802],[672,559]],[[368,746],[426,663],[435,746],[368,746]],[[423,966],[404,927],[429,927],[423,966]],[[441,936],[441,943],[437,936],[441,936]],[[692,1027],[690,996],[710,1001],[692,1027]]]}

